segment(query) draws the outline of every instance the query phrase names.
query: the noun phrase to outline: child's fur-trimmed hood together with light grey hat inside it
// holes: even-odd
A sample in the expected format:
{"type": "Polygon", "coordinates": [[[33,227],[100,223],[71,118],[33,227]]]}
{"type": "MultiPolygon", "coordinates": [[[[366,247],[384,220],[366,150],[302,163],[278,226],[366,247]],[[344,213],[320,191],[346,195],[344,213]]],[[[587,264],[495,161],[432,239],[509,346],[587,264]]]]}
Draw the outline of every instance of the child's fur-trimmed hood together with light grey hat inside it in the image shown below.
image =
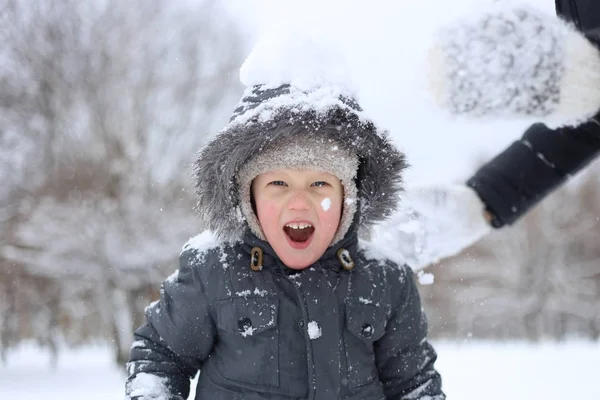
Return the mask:
{"type": "Polygon", "coordinates": [[[344,210],[335,243],[353,221],[358,226],[352,230],[364,236],[395,210],[406,163],[387,132],[343,91],[254,86],[195,162],[204,228],[223,241],[240,240],[248,228],[264,238],[250,184],[262,172],[289,167],[327,171],[342,181],[344,210]]]}

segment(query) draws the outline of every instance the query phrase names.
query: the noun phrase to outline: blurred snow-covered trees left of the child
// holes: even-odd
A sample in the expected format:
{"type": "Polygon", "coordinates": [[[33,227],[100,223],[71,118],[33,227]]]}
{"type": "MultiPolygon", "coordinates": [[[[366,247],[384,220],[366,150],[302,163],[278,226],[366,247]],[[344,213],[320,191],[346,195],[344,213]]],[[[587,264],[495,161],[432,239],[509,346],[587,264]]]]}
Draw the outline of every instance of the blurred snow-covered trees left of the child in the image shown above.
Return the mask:
{"type": "Polygon", "coordinates": [[[201,229],[189,164],[237,100],[243,42],[216,1],[0,7],[0,343],[56,346],[62,325],[123,363],[201,229]]]}

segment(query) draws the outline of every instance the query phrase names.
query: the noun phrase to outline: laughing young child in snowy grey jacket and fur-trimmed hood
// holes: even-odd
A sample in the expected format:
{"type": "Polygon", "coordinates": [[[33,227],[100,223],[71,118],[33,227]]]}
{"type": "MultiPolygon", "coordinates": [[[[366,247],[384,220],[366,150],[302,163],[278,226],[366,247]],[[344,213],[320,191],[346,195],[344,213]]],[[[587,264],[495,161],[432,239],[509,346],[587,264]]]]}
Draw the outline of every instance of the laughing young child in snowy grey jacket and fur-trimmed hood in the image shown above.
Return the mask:
{"type": "Polygon", "coordinates": [[[127,398],[445,399],[408,267],[370,257],[404,156],[331,88],[255,86],[196,163],[220,243],[183,247],[148,307],[127,398]]]}

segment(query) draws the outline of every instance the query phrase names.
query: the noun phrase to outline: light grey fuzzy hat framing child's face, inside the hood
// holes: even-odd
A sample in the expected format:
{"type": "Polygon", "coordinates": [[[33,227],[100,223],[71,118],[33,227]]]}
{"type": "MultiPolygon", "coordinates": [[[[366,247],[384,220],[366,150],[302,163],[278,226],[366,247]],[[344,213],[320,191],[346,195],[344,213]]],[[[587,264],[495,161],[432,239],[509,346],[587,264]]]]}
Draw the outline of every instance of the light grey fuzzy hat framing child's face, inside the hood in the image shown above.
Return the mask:
{"type": "Polygon", "coordinates": [[[284,129],[289,130],[289,134],[272,142],[269,147],[260,149],[244,164],[237,175],[242,214],[250,230],[258,238],[265,240],[251,202],[251,185],[254,178],[262,173],[286,168],[328,172],[337,176],[344,187],[340,225],[331,243],[334,245],[348,232],[356,211],[355,179],[358,157],[342,143],[305,132],[302,126],[290,126],[284,129]]]}

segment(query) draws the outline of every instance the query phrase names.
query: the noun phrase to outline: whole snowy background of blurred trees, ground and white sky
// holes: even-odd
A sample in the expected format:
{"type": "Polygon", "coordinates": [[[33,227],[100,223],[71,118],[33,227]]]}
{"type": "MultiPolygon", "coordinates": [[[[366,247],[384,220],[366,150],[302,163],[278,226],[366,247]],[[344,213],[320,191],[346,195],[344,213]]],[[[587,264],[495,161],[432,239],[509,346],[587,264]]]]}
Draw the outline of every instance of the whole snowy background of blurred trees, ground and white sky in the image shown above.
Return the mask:
{"type": "MultiPolygon", "coordinates": [[[[0,49],[2,399],[122,398],[115,360],[198,230],[182,171],[274,27],[310,26],[339,50],[361,105],[406,152],[408,184],[464,181],[533,122],[451,118],[424,90],[435,28],[491,0],[43,3],[9,1],[0,16],[13,28],[0,49]]],[[[449,398],[600,398],[597,174],[428,268],[449,398]]]]}

